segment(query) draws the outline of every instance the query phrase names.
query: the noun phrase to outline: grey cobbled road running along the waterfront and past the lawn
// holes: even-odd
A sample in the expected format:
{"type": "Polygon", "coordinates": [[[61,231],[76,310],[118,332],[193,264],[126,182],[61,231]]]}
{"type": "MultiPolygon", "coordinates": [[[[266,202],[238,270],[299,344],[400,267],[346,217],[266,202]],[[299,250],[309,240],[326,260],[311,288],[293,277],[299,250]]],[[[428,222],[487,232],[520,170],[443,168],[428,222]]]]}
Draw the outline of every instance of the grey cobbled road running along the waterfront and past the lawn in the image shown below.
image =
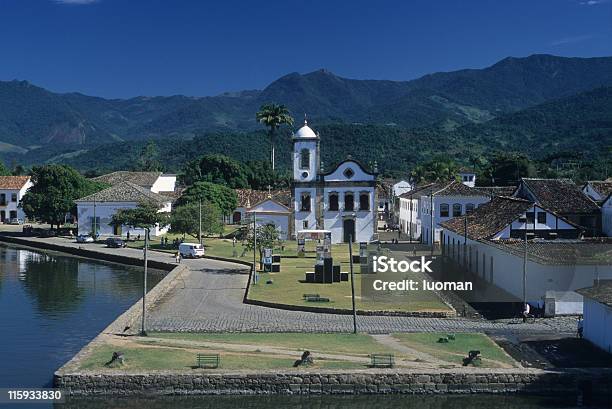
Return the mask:
{"type": "MultiPolygon", "coordinates": [[[[79,244],[63,238],[27,238],[102,253],[142,258],[137,249],[109,249],[100,244],[79,244]]],[[[168,262],[172,255],[150,252],[152,260],[168,262]]],[[[179,281],[149,313],[149,328],[183,332],[350,332],[350,315],[286,311],[243,304],[248,268],[234,263],[200,259],[184,260],[191,272],[179,281]]],[[[360,332],[487,332],[514,336],[538,333],[574,333],[575,320],[552,319],[532,324],[491,322],[464,318],[415,318],[358,316],[360,332]]]]}

